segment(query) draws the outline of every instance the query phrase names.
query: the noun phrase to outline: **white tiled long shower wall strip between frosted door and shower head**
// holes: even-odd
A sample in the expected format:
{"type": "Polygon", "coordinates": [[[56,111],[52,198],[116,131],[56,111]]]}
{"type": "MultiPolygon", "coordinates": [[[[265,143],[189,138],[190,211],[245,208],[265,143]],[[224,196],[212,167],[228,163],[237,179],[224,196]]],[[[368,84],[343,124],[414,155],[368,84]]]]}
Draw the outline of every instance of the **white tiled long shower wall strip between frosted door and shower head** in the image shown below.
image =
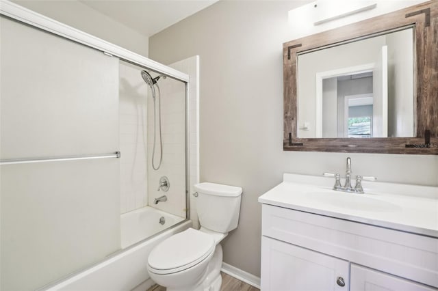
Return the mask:
{"type": "Polygon", "coordinates": [[[146,100],[148,87],[140,68],[120,61],[120,213],[148,204],[146,100]]]}

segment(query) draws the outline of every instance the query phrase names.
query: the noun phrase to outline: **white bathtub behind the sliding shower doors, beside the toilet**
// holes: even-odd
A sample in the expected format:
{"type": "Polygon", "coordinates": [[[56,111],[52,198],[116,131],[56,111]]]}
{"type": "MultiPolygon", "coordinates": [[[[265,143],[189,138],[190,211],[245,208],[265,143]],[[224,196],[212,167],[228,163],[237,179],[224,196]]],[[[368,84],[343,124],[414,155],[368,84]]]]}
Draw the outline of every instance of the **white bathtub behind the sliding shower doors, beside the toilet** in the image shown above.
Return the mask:
{"type": "Polygon", "coordinates": [[[146,206],[122,214],[120,216],[120,225],[122,248],[133,243],[137,243],[136,245],[127,247],[127,249],[116,253],[107,260],[43,290],[146,290],[153,284],[146,268],[149,253],[155,245],[165,238],[191,227],[192,221],[185,221],[181,217],[146,206]],[[161,217],[166,220],[164,225],[159,223],[161,217]],[[175,225],[168,228],[172,224],[175,225]],[[166,230],[166,228],[168,229],[166,230]],[[149,236],[152,237],[144,240],[149,236]]]}

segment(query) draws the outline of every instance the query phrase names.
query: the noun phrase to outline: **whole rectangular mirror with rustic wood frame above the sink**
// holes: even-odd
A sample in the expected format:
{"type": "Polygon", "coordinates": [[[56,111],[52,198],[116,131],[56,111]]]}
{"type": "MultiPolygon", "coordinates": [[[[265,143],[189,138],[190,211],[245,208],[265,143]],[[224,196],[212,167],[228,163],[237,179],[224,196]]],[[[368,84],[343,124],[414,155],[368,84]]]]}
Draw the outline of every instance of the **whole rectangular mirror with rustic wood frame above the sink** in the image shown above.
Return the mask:
{"type": "Polygon", "coordinates": [[[283,149],[438,154],[438,1],[283,44],[283,149]]]}

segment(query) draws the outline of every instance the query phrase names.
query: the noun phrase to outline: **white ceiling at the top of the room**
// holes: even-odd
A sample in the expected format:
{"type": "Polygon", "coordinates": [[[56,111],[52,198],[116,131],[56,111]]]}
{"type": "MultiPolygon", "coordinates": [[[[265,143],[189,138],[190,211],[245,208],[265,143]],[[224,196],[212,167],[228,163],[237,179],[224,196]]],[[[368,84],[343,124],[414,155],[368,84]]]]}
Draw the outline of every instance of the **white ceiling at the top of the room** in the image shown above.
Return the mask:
{"type": "Polygon", "coordinates": [[[79,0],[119,23],[153,36],[218,0],[79,0]]]}

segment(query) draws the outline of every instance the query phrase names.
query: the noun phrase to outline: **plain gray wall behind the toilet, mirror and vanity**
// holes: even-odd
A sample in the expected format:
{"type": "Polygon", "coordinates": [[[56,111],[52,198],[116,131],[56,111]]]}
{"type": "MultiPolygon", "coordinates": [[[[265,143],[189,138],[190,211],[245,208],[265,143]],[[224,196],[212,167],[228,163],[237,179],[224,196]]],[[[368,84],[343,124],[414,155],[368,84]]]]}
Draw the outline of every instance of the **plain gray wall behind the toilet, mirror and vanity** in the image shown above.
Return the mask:
{"type": "Polygon", "coordinates": [[[343,172],[351,156],[354,174],[438,185],[438,156],[283,152],[281,50],[294,32],[287,12],[302,3],[219,1],[149,39],[149,56],[164,64],[200,55],[201,182],[243,187],[239,227],[222,243],[224,262],[257,276],[257,197],[284,172],[343,172]]]}

